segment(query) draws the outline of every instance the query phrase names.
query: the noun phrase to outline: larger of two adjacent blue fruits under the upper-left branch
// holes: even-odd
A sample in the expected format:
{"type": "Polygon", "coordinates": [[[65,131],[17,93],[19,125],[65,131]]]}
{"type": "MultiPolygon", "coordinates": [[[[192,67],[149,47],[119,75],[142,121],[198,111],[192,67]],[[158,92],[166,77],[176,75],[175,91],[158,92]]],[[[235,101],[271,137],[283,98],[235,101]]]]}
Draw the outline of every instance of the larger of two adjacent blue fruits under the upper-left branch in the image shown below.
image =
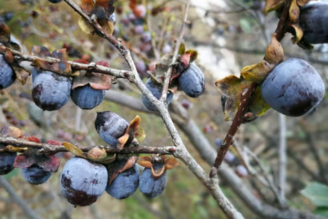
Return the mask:
{"type": "Polygon", "coordinates": [[[32,71],[33,101],[43,110],[57,110],[63,107],[70,98],[72,79],[51,71],[37,74],[32,71]]]}

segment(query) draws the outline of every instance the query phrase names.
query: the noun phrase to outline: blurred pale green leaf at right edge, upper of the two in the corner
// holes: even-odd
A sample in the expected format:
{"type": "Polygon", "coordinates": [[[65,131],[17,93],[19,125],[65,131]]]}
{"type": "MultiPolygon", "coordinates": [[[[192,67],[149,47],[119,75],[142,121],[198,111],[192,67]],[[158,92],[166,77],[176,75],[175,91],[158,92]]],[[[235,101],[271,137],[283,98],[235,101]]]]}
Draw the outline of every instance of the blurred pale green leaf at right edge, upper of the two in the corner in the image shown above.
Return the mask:
{"type": "Polygon", "coordinates": [[[328,187],[324,184],[310,183],[301,190],[301,194],[318,207],[328,207],[328,187]]]}

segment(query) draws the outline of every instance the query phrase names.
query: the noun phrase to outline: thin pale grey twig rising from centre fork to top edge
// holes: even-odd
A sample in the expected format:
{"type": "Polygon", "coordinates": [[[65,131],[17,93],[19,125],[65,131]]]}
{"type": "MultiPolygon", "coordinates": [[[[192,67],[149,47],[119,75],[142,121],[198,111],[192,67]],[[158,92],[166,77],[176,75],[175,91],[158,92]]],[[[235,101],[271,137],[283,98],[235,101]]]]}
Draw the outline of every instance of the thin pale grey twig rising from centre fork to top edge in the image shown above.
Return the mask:
{"type": "Polygon", "coordinates": [[[164,101],[164,102],[166,101],[167,90],[169,88],[170,79],[171,79],[171,75],[172,75],[172,71],[173,71],[173,66],[172,65],[176,62],[176,59],[179,55],[180,44],[181,44],[183,35],[185,33],[185,27],[186,27],[189,7],[190,7],[190,1],[188,1],[187,5],[186,5],[184,19],[183,19],[183,23],[182,23],[182,27],[181,27],[181,32],[180,32],[179,38],[177,39],[177,41],[175,43],[175,46],[174,46],[174,54],[173,54],[173,57],[172,57],[171,65],[170,65],[169,69],[164,74],[164,85],[163,85],[162,96],[161,96],[161,100],[164,101]]]}

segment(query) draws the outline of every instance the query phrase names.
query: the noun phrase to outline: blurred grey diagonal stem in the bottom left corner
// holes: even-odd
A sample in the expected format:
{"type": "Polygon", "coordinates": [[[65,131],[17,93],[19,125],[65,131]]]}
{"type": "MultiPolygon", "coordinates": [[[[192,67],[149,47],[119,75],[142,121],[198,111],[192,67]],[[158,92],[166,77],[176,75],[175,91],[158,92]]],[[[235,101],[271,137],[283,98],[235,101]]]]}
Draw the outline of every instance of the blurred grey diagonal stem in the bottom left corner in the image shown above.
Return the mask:
{"type": "Polygon", "coordinates": [[[4,176],[0,176],[0,185],[10,194],[12,200],[25,212],[25,214],[31,219],[43,219],[35,211],[30,209],[26,202],[15,192],[15,189],[10,185],[10,183],[5,179],[4,176]]]}

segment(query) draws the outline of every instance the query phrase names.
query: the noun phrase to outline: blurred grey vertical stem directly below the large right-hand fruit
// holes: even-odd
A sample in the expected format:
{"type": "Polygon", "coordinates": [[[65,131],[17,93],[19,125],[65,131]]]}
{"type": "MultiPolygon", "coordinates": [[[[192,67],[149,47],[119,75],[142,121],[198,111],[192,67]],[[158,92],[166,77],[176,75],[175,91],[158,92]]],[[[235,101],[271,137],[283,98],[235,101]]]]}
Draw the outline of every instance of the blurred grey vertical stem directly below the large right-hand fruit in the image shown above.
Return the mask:
{"type": "Polygon", "coordinates": [[[286,187],[286,165],[287,165],[287,140],[286,140],[286,116],[279,113],[279,196],[285,202],[285,187],[286,187]]]}

